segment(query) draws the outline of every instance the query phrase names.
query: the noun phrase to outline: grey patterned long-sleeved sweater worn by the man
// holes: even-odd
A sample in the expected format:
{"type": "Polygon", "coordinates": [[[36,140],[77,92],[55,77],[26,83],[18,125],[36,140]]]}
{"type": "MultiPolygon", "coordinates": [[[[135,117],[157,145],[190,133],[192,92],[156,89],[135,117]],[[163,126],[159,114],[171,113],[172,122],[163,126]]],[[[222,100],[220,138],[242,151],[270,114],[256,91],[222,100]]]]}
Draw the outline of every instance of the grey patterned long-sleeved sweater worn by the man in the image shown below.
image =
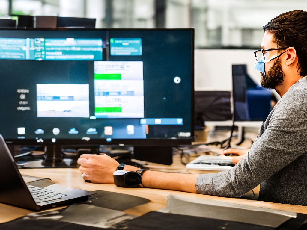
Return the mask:
{"type": "Polygon", "coordinates": [[[307,206],[307,78],[290,87],[231,170],[200,174],[200,194],[240,197],[260,184],[258,200],[307,206]]]}

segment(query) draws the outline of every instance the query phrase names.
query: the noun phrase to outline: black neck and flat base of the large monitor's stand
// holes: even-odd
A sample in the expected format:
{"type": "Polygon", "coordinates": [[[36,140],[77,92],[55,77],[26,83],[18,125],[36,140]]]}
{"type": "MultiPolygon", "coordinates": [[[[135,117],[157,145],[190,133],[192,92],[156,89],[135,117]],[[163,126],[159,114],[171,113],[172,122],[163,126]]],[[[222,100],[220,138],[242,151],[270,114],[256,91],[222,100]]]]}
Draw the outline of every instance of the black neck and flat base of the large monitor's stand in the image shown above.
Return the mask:
{"type": "Polygon", "coordinates": [[[60,144],[45,145],[45,159],[27,162],[23,168],[75,168],[78,167],[77,159],[63,158],[60,144]]]}

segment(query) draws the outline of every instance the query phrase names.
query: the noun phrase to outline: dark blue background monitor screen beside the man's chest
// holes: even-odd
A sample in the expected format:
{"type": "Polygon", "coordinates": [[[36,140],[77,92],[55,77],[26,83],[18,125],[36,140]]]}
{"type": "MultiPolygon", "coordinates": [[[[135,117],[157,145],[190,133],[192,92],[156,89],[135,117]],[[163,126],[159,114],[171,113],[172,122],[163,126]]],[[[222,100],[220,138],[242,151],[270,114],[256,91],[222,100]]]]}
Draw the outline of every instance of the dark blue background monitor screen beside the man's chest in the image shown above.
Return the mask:
{"type": "Polygon", "coordinates": [[[265,121],[271,111],[271,90],[258,86],[247,66],[232,65],[234,121],[265,121]]]}

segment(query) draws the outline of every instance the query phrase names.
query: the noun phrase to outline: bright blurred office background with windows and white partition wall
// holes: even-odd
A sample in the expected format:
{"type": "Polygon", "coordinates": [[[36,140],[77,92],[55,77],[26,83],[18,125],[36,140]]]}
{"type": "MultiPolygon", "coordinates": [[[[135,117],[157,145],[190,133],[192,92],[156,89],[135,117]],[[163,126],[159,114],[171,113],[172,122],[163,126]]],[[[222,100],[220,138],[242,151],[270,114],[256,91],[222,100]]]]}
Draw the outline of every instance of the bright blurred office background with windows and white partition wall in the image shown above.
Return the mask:
{"type": "Polygon", "coordinates": [[[195,28],[196,90],[231,90],[231,64],[254,70],[262,26],[280,13],[307,10],[305,0],[0,0],[0,17],[96,18],[96,28],[195,28]]]}

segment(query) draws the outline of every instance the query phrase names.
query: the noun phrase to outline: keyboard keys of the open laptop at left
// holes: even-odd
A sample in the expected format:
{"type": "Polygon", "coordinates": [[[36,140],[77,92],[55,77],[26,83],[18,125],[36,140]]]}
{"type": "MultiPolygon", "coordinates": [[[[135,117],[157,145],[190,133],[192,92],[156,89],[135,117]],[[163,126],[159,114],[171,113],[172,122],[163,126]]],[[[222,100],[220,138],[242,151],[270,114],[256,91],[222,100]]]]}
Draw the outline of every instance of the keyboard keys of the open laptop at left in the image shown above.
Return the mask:
{"type": "Polygon", "coordinates": [[[34,201],[37,203],[52,201],[67,196],[67,194],[55,193],[48,189],[42,189],[32,185],[27,185],[27,186],[28,189],[30,190],[31,195],[33,196],[34,201]]]}

